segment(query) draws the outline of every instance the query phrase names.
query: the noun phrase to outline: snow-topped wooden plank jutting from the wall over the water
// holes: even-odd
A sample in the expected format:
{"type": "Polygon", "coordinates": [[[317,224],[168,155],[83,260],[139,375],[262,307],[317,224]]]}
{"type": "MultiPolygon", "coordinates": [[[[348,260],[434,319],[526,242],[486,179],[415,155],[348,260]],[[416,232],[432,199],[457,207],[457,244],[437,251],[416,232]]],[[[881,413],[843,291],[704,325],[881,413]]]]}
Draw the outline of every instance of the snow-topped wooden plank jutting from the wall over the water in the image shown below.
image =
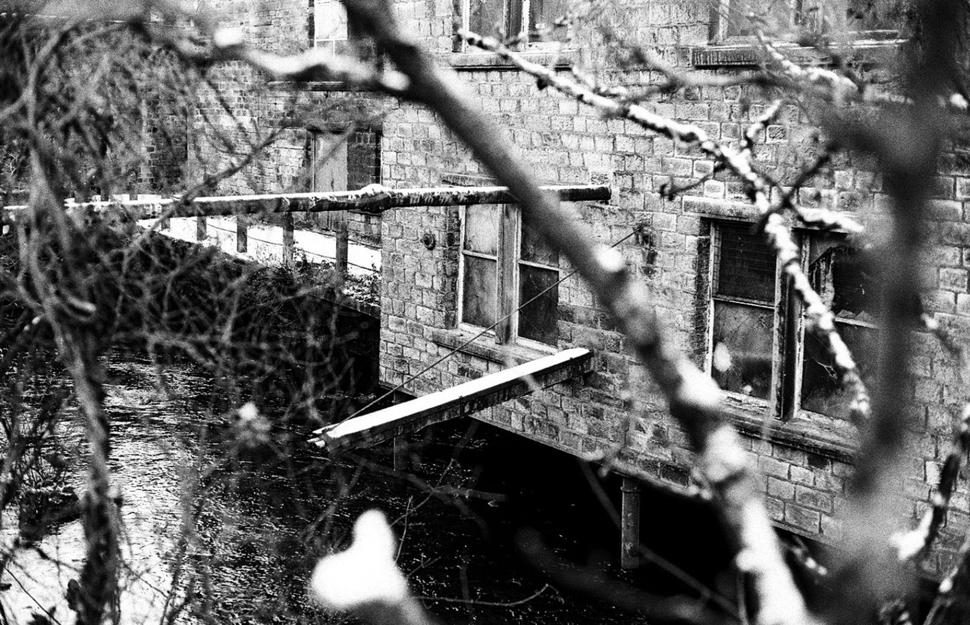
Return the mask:
{"type": "Polygon", "coordinates": [[[592,361],[593,352],[589,349],[565,349],[403,404],[322,427],[313,432],[316,438],[310,443],[331,449],[380,443],[589,373],[592,361]]]}

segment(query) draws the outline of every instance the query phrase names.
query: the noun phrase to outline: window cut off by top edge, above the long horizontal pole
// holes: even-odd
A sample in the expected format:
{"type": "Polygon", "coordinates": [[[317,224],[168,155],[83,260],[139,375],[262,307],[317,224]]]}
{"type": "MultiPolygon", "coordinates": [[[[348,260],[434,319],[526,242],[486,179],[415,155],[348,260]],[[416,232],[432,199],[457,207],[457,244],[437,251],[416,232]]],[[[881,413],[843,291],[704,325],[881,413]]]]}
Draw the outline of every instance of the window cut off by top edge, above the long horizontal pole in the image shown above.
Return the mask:
{"type": "MultiPolygon", "coordinates": [[[[500,36],[528,33],[528,43],[563,40],[565,37],[547,28],[569,11],[566,0],[454,0],[456,15],[462,16],[462,28],[479,35],[500,36]]],[[[459,42],[455,51],[464,47],[459,42]]]]}

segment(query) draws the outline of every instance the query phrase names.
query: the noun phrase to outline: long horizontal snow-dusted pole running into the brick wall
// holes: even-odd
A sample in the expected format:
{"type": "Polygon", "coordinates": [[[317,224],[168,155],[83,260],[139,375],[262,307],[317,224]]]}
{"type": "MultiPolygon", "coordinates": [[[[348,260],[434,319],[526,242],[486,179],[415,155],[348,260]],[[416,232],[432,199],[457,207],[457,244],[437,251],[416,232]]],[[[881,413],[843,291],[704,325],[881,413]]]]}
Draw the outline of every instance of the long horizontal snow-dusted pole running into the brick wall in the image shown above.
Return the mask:
{"type": "MultiPolygon", "coordinates": [[[[547,185],[563,202],[608,200],[608,186],[593,184],[547,185]]],[[[504,186],[455,186],[438,188],[392,189],[373,186],[359,191],[311,193],[276,193],[268,195],[226,195],[200,197],[191,202],[178,198],[163,200],[128,200],[121,202],[85,202],[69,204],[68,211],[84,213],[120,212],[135,219],[148,219],[165,214],[169,217],[215,216],[259,213],[328,213],[361,211],[380,214],[390,209],[419,206],[469,206],[473,204],[510,204],[515,197],[504,186]]],[[[0,208],[0,222],[16,222],[27,211],[26,206],[0,208]]]]}

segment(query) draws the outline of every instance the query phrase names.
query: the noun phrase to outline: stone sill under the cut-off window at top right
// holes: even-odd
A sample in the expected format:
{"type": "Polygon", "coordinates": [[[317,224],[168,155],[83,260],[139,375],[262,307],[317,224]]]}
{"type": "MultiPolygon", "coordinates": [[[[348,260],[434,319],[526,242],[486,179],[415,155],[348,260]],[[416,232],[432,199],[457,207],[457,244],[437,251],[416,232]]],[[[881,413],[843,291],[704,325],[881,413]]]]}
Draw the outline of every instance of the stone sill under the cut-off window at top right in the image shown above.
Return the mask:
{"type": "MultiPolygon", "coordinates": [[[[866,62],[883,62],[903,43],[903,39],[859,39],[847,49],[866,62]]],[[[792,62],[799,65],[829,65],[831,57],[824,52],[795,44],[780,44],[782,51],[792,62]]],[[[764,61],[764,52],[755,43],[738,43],[723,46],[699,46],[691,49],[691,63],[695,67],[758,67],[764,61]]]]}

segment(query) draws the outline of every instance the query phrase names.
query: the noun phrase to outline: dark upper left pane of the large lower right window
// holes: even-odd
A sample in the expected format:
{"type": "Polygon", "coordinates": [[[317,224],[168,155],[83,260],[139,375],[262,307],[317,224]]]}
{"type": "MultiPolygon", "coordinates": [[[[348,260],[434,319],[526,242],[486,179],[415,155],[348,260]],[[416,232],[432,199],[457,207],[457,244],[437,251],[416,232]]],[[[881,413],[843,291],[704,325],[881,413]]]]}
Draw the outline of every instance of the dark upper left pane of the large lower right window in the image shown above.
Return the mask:
{"type": "Polygon", "coordinates": [[[764,304],[775,301],[775,253],[748,224],[719,229],[714,292],[764,304]]]}

